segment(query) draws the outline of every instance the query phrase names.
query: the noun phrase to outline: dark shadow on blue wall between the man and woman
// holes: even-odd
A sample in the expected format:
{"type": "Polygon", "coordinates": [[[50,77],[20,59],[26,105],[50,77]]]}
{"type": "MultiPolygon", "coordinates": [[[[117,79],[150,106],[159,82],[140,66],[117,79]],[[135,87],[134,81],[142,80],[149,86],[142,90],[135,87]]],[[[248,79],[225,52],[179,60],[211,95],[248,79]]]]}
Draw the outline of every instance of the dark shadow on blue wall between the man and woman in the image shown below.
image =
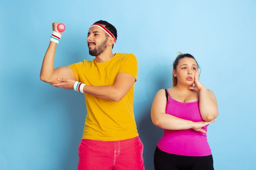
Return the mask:
{"type": "Polygon", "coordinates": [[[136,115],[140,115],[139,119],[136,119],[136,123],[139,136],[144,144],[143,158],[146,170],[154,170],[155,148],[157,142],[163,135],[163,129],[158,128],[151,121],[151,105],[157,91],[162,88],[171,87],[171,71],[169,68],[168,64],[167,66],[156,65],[148,71],[147,76],[144,77],[144,89],[148,100],[134,104],[135,119],[137,117],[136,115]]]}

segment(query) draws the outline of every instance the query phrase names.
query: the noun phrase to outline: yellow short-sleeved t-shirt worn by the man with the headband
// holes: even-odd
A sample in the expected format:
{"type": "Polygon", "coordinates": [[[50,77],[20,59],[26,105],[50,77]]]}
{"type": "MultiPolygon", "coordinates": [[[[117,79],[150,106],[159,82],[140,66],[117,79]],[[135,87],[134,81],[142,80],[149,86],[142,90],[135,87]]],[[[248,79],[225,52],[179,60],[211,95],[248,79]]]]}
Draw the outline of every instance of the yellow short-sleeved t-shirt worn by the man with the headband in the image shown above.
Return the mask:
{"type": "MultiPolygon", "coordinates": [[[[117,73],[128,73],[137,79],[138,61],[134,54],[116,53],[107,62],[94,60],[69,66],[76,80],[89,86],[114,84],[117,73]]],[[[125,140],[138,136],[133,113],[134,84],[119,102],[85,93],[87,115],[82,139],[101,141],[125,140]]]]}

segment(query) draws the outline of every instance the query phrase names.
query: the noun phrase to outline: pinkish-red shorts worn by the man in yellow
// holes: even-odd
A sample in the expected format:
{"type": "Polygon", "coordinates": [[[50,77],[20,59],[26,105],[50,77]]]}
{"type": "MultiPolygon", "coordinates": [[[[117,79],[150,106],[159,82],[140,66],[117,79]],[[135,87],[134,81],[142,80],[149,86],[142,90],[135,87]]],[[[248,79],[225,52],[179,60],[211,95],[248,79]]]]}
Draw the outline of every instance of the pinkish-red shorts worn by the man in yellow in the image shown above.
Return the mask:
{"type": "Polygon", "coordinates": [[[139,137],[122,141],[82,139],[78,170],[145,170],[139,137]]]}

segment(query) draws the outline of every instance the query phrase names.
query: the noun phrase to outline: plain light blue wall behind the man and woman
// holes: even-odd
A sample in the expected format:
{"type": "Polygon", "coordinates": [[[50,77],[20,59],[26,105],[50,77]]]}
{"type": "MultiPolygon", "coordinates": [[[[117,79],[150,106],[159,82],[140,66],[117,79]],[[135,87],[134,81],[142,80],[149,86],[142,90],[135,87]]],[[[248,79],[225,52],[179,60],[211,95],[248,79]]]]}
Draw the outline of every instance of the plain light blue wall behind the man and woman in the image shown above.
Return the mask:
{"type": "Polygon", "coordinates": [[[92,60],[89,26],[107,20],[118,31],[113,52],[139,61],[134,111],[146,170],[163,130],[150,108],[171,87],[177,52],[191,53],[200,81],[218,99],[208,141],[216,170],[255,169],[255,0],[0,1],[0,170],[74,170],[86,107],[82,94],[39,79],[52,22],[66,30],[55,66],[92,60]]]}

